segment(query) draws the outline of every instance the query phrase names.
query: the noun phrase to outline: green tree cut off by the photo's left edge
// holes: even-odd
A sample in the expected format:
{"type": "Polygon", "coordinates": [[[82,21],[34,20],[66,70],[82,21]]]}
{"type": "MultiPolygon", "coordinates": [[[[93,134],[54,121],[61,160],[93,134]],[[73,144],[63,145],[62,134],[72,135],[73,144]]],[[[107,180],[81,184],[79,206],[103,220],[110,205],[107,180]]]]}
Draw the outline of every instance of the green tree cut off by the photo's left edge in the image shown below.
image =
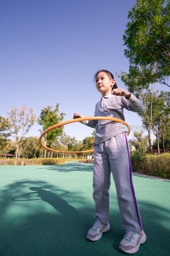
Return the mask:
{"type": "Polygon", "coordinates": [[[5,116],[0,116],[0,148],[3,149],[8,143],[8,137],[11,136],[11,124],[5,116]]]}

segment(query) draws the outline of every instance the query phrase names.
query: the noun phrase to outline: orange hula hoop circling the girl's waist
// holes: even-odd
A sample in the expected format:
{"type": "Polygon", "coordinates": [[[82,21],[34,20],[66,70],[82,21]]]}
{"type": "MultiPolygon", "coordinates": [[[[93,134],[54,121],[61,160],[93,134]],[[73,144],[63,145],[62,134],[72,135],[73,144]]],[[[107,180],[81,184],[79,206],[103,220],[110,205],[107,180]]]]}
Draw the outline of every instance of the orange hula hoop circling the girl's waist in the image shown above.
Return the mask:
{"type": "Polygon", "coordinates": [[[59,123],[59,124],[55,124],[51,127],[49,127],[48,129],[46,129],[39,137],[39,144],[43,147],[43,148],[46,148],[47,150],[50,150],[50,151],[53,151],[53,152],[58,152],[58,153],[86,153],[86,152],[93,152],[94,149],[91,149],[91,150],[83,150],[83,151],[60,151],[60,150],[56,150],[56,149],[52,149],[52,148],[48,148],[46,147],[45,145],[43,145],[43,143],[41,142],[41,139],[42,137],[49,131],[57,128],[57,127],[60,127],[62,125],[65,125],[65,124],[71,124],[71,123],[75,123],[75,122],[80,122],[80,121],[86,121],[86,120],[110,120],[110,121],[115,121],[115,122],[118,122],[118,123],[122,123],[122,124],[125,124],[127,127],[128,127],[128,135],[131,131],[130,129],[130,126],[125,123],[124,121],[118,119],[118,118],[113,118],[113,117],[105,117],[105,116],[91,116],[91,117],[81,117],[81,118],[75,118],[75,119],[71,119],[71,120],[68,120],[68,121],[65,121],[65,122],[62,122],[62,123],[59,123]]]}

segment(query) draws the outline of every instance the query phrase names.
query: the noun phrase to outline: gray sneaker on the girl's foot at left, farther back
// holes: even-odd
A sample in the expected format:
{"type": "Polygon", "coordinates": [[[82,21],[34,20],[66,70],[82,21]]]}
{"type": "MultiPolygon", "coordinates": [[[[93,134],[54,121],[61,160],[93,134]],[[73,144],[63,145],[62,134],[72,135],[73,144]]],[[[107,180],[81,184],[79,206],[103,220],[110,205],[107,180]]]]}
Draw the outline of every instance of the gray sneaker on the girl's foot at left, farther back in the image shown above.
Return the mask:
{"type": "Polygon", "coordinates": [[[88,234],[87,234],[87,239],[90,241],[97,241],[102,237],[103,232],[107,232],[110,229],[110,225],[108,224],[103,224],[102,222],[99,222],[96,220],[95,224],[93,225],[92,228],[90,228],[88,234]]]}

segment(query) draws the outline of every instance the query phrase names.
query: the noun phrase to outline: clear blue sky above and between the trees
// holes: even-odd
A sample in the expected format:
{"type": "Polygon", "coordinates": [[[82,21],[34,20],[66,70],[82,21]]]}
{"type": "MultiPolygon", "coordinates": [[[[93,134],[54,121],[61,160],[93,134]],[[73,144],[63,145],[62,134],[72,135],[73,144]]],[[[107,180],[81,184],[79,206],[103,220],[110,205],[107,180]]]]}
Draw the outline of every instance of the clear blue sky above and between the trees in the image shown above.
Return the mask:
{"type": "MultiPolygon", "coordinates": [[[[74,112],[94,116],[101,97],[93,83],[97,70],[110,70],[118,87],[126,89],[115,72],[128,70],[122,38],[135,3],[1,0],[0,115],[7,116],[11,105],[26,104],[39,116],[44,106],[59,103],[64,121],[74,112]]],[[[161,90],[167,91],[167,86],[161,90]]],[[[128,124],[142,124],[136,113],[125,110],[124,115],[128,124]]],[[[39,128],[35,124],[27,136],[39,137],[39,128]]],[[[80,123],[67,124],[64,130],[78,140],[93,132],[80,123]]]]}

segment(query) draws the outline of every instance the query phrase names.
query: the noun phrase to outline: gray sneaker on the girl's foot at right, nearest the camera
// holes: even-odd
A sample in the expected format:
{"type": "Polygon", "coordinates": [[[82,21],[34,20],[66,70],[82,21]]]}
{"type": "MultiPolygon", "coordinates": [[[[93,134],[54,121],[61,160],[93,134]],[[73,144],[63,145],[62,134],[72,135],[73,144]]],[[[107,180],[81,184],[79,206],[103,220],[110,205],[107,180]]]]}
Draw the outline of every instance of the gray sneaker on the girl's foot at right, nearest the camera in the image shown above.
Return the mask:
{"type": "Polygon", "coordinates": [[[133,231],[126,231],[126,234],[122,241],[119,244],[119,250],[126,253],[135,253],[138,252],[140,244],[145,243],[146,235],[144,231],[140,232],[133,232],[133,231]]]}

